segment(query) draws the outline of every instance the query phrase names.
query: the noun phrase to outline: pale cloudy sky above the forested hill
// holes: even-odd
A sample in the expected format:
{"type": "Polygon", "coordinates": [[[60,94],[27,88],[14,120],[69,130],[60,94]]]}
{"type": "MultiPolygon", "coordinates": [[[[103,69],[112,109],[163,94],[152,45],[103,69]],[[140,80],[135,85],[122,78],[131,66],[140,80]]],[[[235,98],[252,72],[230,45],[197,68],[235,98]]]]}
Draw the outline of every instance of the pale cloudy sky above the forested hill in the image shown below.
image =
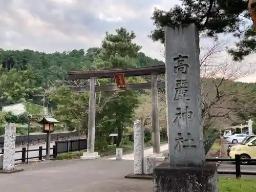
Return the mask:
{"type": "MultiPolygon", "coordinates": [[[[154,7],[168,10],[175,4],[180,1],[1,0],[0,45],[47,53],[86,50],[99,47],[105,31],[125,27],[136,33],[136,42],[146,55],[163,60],[162,46],[147,37],[154,28],[150,17],[154,7]]],[[[210,40],[201,42],[211,44],[210,40]]]]}

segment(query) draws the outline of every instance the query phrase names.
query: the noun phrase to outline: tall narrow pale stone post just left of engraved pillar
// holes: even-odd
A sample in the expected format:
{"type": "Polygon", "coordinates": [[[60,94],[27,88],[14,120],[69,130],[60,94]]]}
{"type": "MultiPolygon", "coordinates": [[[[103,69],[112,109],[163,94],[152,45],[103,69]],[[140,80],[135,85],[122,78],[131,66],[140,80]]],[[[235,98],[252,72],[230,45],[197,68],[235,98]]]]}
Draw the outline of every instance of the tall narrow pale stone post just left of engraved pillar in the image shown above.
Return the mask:
{"type": "Polygon", "coordinates": [[[143,142],[144,134],[143,127],[140,120],[134,121],[134,174],[143,174],[143,142]]]}

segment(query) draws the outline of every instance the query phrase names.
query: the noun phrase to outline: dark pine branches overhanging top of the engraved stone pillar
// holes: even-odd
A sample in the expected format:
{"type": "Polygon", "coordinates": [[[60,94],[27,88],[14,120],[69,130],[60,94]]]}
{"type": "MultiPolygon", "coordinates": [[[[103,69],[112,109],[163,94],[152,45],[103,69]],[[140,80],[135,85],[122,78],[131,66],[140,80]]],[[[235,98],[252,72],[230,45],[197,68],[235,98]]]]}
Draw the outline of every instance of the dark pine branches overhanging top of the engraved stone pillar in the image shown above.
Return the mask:
{"type": "Polygon", "coordinates": [[[255,31],[245,0],[180,0],[169,11],[155,9],[152,19],[156,27],[151,33],[153,40],[164,43],[164,27],[195,23],[202,35],[217,38],[218,34],[239,37],[236,49],[229,53],[235,60],[256,51],[255,31]]]}

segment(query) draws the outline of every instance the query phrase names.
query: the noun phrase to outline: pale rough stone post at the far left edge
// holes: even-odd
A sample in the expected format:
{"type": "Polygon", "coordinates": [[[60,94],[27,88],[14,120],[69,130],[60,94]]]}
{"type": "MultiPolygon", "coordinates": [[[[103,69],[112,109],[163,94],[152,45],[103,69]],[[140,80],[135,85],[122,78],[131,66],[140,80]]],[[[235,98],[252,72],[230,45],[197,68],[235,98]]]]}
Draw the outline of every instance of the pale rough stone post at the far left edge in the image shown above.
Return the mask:
{"type": "Polygon", "coordinates": [[[15,142],[16,142],[16,126],[15,123],[7,124],[5,127],[5,144],[4,144],[4,160],[3,170],[11,171],[15,165],[15,142]]]}

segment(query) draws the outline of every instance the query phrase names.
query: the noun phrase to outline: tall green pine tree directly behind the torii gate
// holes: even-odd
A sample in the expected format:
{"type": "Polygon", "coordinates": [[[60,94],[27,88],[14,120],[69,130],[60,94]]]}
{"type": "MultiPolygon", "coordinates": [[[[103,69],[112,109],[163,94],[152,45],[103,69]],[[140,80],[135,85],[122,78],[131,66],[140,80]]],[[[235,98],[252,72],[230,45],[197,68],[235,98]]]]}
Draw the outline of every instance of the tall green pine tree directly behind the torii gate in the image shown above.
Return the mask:
{"type": "MultiPolygon", "coordinates": [[[[116,30],[116,34],[105,35],[102,41],[100,53],[95,58],[95,66],[98,69],[123,69],[136,67],[136,59],[139,55],[141,46],[136,45],[133,40],[135,33],[128,32],[124,28],[116,30]]],[[[126,78],[127,82],[137,81],[139,78],[126,78]]],[[[114,79],[109,80],[109,84],[114,79]]],[[[119,91],[117,93],[100,93],[103,98],[112,98],[104,108],[108,109],[108,119],[112,119],[111,125],[117,130],[117,146],[122,142],[125,126],[131,123],[134,110],[139,104],[138,94],[134,91],[119,91]]],[[[101,102],[101,101],[99,101],[101,102]]],[[[97,116],[96,116],[97,118],[97,116]]],[[[103,128],[103,127],[102,127],[103,128]]]]}

